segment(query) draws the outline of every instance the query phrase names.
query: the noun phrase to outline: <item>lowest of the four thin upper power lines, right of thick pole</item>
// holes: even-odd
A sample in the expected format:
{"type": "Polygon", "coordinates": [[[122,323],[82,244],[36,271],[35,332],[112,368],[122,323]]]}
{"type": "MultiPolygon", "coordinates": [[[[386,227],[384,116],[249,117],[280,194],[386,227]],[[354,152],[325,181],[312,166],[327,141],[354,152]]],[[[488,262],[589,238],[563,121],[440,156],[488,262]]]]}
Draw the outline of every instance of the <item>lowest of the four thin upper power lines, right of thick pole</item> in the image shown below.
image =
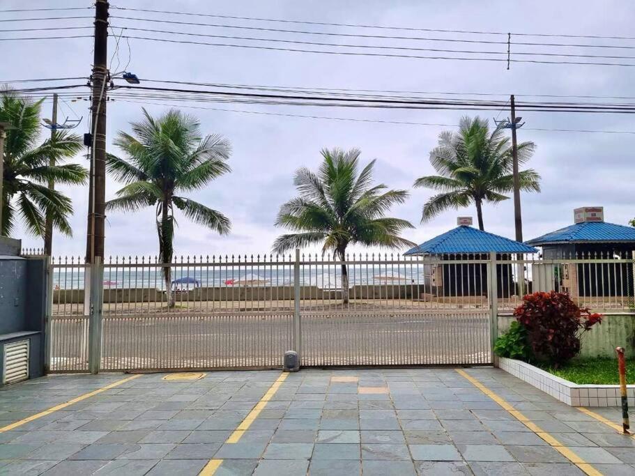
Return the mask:
{"type": "MultiPolygon", "coordinates": [[[[121,28],[121,27],[119,27],[121,28]]],[[[166,38],[148,38],[145,36],[123,36],[123,38],[130,38],[135,40],[147,40],[158,41],[162,43],[180,43],[185,45],[205,45],[205,46],[220,46],[220,47],[234,47],[234,48],[247,48],[247,49],[267,49],[271,51],[282,52],[296,52],[296,53],[315,53],[315,54],[342,54],[346,56],[375,56],[385,58],[409,58],[409,59],[453,59],[457,61],[503,61],[507,62],[507,59],[503,58],[482,58],[482,57],[467,57],[467,56],[422,56],[414,54],[388,54],[388,53],[361,53],[361,52],[333,52],[333,51],[320,51],[315,49],[300,49],[300,48],[282,48],[273,46],[262,45],[236,45],[233,43],[209,43],[202,41],[191,40],[168,40],[166,38]]],[[[513,63],[538,63],[538,64],[570,64],[570,65],[582,65],[582,66],[628,66],[634,67],[635,63],[588,63],[584,61],[550,61],[539,59],[512,59],[513,63]]]]}

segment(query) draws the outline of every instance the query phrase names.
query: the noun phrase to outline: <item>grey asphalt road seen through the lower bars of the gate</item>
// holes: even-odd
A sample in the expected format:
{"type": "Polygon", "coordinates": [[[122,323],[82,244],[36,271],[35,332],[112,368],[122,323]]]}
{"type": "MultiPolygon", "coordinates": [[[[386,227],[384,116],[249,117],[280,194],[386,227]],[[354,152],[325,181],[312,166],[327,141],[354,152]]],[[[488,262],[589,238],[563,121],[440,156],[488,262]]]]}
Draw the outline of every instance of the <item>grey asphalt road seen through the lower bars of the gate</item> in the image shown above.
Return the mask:
{"type": "MultiPolygon", "coordinates": [[[[86,368],[86,321],[56,318],[52,369],[86,368]]],[[[471,310],[399,313],[305,313],[302,363],[330,365],[488,364],[489,316],[471,310]]],[[[293,349],[293,314],[109,316],[102,368],[205,369],[280,367],[293,349]]]]}

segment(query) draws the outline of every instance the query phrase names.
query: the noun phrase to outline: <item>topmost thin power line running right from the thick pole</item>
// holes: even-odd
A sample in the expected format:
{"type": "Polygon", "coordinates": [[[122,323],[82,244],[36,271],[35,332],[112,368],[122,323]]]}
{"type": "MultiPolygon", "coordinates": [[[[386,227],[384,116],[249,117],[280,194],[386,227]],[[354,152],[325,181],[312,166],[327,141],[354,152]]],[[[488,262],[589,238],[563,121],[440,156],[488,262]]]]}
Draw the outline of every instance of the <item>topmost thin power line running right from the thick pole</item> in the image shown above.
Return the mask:
{"type": "Polygon", "coordinates": [[[144,13],[167,13],[170,15],[187,15],[193,17],[212,17],[212,18],[225,18],[228,20],[250,20],[254,22],[280,22],[280,23],[292,23],[292,24],[309,24],[320,26],[347,26],[353,28],[370,28],[370,29],[388,29],[388,30],[403,30],[403,31],[430,31],[438,33],[462,33],[462,34],[476,34],[476,35],[501,35],[507,36],[511,33],[514,36],[542,36],[553,38],[594,38],[594,39],[606,39],[606,40],[635,40],[632,36],[602,36],[602,35],[567,35],[561,33],[519,33],[519,32],[507,32],[507,31],[474,31],[474,30],[454,30],[454,29],[432,29],[432,28],[413,28],[408,26],[385,26],[385,25],[367,25],[367,24],[351,24],[351,23],[330,23],[330,22],[309,22],[300,20],[283,20],[279,18],[258,18],[258,17],[239,17],[232,15],[213,15],[209,13],[188,13],[188,12],[176,12],[170,10],[146,10],[144,8],[128,8],[114,6],[118,10],[130,10],[144,13]]]}

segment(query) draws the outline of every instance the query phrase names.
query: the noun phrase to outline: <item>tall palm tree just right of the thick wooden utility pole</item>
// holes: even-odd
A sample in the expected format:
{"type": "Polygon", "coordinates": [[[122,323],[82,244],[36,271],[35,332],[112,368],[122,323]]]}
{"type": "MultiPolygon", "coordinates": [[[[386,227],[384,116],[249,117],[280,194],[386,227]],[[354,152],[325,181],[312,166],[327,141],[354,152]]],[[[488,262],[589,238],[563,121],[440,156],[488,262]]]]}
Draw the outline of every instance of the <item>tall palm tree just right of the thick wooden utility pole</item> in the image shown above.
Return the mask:
{"type": "Polygon", "coordinates": [[[169,307],[174,307],[171,293],[171,270],[174,239],[174,207],[192,222],[229,233],[231,222],[222,213],[197,201],[181,196],[204,187],[215,178],[231,171],[227,159],[231,146],[220,135],[201,138],[197,118],[171,109],[153,118],[143,109],[144,119],[133,122],[132,135],[118,132],[114,144],[127,156],[108,155],[108,170],[126,183],[107,202],[108,210],[135,211],[155,207],[159,255],[169,307]]]}

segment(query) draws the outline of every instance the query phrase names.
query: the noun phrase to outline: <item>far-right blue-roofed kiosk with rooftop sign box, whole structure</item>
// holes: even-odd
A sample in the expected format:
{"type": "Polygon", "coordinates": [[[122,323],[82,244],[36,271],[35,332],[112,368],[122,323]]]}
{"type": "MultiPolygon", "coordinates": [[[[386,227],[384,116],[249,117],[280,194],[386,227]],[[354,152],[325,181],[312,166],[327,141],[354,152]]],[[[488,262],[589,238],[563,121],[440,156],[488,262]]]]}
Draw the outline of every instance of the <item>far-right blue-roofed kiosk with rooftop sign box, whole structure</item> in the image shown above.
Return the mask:
{"type": "MultiPolygon", "coordinates": [[[[526,243],[541,247],[543,259],[632,259],[635,228],[605,222],[601,206],[583,207],[574,210],[574,224],[526,243]]],[[[560,284],[573,296],[632,296],[629,264],[564,264],[560,284]]]]}

